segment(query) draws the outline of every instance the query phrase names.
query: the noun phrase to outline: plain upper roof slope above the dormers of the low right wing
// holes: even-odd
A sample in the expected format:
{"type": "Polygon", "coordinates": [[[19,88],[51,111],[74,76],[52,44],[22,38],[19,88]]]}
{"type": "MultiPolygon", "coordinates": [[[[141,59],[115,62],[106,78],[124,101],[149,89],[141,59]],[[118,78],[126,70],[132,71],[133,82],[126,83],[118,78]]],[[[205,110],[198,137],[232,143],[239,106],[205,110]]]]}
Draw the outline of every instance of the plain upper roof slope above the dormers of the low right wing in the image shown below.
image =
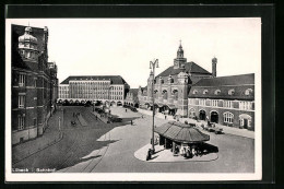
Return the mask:
{"type": "Polygon", "coordinates": [[[224,86],[255,84],[255,73],[202,79],[193,86],[224,86]]]}

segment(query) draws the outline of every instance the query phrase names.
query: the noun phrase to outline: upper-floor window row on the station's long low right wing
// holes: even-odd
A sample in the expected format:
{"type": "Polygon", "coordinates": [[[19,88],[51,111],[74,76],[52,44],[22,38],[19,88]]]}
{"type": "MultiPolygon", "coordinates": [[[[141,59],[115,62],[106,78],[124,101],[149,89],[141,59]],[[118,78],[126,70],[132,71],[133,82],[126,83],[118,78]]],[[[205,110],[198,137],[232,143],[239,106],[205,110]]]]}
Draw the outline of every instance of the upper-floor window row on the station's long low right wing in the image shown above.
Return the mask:
{"type": "MultiPolygon", "coordinates": [[[[200,105],[200,106],[206,106],[206,101],[209,101],[209,106],[212,107],[218,107],[218,102],[223,102],[222,107],[226,108],[234,108],[233,107],[233,101],[226,101],[226,99],[194,99],[194,98],[189,98],[189,105],[200,105]]],[[[239,109],[241,110],[252,110],[252,102],[236,102],[239,105],[239,109]]]]}

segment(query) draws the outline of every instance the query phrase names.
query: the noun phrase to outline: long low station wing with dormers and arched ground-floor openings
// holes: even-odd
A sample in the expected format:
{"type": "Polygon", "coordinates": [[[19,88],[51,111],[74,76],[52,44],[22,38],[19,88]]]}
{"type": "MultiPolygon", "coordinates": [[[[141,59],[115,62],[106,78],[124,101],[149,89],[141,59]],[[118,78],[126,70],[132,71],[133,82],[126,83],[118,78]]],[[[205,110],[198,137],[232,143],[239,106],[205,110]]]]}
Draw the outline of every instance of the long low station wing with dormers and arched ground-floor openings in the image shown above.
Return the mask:
{"type": "Polygon", "coordinates": [[[188,115],[255,130],[255,74],[200,80],[190,90],[188,115]]]}

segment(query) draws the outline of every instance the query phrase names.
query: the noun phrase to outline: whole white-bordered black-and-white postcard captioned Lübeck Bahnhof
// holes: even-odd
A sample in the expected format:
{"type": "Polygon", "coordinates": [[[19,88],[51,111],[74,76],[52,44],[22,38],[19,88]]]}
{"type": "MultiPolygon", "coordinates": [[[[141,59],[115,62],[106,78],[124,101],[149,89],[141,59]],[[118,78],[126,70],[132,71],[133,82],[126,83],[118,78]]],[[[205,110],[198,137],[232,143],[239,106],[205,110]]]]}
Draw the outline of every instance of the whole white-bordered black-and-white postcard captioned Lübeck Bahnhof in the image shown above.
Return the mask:
{"type": "Polygon", "coordinates": [[[261,19],[7,19],[7,181],[262,178],[261,19]]]}

